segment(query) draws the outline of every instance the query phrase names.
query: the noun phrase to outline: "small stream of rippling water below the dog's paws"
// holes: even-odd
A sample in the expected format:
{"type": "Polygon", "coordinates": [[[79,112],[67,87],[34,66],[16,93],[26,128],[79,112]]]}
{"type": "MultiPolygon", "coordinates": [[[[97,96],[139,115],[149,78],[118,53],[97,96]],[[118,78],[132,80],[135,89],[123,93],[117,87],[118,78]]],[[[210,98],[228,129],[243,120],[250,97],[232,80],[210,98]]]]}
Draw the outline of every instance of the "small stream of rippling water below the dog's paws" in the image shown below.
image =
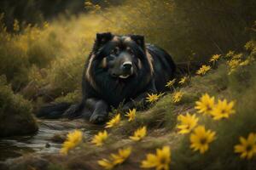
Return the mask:
{"type": "Polygon", "coordinates": [[[89,139],[102,128],[80,119],[38,120],[38,125],[39,130],[33,135],[0,139],[0,162],[27,153],[57,153],[61,148],[61,140],[73,129],[82,130],[86,139],[89,139]]]}

